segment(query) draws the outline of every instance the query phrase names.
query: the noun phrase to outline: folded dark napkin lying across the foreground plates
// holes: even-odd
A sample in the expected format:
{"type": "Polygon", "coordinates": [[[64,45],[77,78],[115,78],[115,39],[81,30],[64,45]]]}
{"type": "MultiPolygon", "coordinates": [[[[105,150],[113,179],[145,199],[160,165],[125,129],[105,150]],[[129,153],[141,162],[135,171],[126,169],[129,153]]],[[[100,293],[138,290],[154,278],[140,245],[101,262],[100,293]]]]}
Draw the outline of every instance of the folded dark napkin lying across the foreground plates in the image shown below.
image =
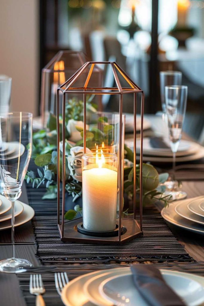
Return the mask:
{"type": "MultiPolygon", "coordinates": [[[[166,284],[160,271],[150,265],[137,264],[131,267],[138,292],[150,306],[184,306],[184,302],[166,284]]],[[[135,301],[136,302],[136,301],[135,301]]],[[[136,305],[136,304],[135,304],[136,305]]]]}

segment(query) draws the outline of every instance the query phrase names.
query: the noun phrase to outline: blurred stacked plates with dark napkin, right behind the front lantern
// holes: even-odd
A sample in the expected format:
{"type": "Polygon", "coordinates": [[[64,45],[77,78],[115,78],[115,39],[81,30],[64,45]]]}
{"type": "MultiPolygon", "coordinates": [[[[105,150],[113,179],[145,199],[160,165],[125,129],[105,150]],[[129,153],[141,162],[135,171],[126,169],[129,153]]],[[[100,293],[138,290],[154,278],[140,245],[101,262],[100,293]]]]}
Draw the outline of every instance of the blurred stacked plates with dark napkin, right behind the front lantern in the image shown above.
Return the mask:
{"type": "MultiPolygon", "coordinates": [[[[169,140],[157,138],[158,146],[153,146],[155,138],[143,138],[143,161],[144,162],[172,162],[172,151],[169,147],[169,140]],[[161,147],[159,144],[161,143],[161,147]]],[[[133,150],[132,139],[125,140],[126,145],[133,150]]],[[[139,159],[140,154],[140,139],[136,140],[136,155],[139,159]]],[[[176,162],[189,162],[204,157],[204,147],[201,145],[188,141],[181,140],[178,152],[176,153],[176,162]]]]}

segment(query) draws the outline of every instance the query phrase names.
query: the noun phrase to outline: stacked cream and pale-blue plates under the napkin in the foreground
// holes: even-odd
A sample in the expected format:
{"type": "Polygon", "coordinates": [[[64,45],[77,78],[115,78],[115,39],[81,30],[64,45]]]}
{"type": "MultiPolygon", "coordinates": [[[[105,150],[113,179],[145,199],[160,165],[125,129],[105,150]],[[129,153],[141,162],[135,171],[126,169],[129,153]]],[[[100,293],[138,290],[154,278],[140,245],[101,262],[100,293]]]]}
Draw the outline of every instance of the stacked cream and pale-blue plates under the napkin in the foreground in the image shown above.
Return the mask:
{"type": "MultiPolygon", "coordinates": [[[[187,306],[204,303],[204,278],[201,276],[160,270],[167,284],[187,306]]],[[[101,270],[77,277],[63,289],[61,299],[66,306],[147,306],[134,286],[130,268],[101,270]]]]}

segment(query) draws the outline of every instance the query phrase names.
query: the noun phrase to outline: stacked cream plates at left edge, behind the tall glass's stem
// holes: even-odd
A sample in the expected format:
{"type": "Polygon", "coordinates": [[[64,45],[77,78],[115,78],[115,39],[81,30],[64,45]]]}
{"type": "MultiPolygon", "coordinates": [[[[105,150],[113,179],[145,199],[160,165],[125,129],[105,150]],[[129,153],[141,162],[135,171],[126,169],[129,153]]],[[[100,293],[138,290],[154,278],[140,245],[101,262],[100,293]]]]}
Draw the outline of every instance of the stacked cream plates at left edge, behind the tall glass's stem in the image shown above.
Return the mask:
{"type": "MultiPolygon", "coordinates": [[[[15,226],[30,221],[34,215],[35,212],[32,207],[18,200],[15,202],[15,226]]],[[[11,217],[11,202],[0,195],[0,230],[11,228],[11,217]]]]}

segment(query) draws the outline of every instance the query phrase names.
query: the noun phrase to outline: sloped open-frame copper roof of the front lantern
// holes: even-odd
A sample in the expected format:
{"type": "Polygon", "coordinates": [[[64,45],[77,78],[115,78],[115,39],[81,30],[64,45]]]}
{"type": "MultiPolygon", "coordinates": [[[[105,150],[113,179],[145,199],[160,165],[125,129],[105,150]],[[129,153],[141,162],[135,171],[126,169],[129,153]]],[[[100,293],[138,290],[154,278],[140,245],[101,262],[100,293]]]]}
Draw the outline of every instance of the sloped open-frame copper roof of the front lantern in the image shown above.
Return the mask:
{"type": "Polygon", "coordinates": [[[86,62],[69,78],[69,80],[62,84],[58,90],[63,93],[84,93],[94,95],[142,92],[142,89],[131,80],[116,62],[86,62]],[[100,67],[98,65],[100,65],[100,67]],[[104,87],[94,86],[94,72],[96,69],[101,70],[101,66],[104,66],[104,71],[109,69],[109,78],[111,78],[109,84],[116,84],[116,86],[114,85],[115,87],[106,87],[106,81],[104,82],[104,87]],[[112,77],[110,77],[110,75],[112,75],[112,77]]]}

